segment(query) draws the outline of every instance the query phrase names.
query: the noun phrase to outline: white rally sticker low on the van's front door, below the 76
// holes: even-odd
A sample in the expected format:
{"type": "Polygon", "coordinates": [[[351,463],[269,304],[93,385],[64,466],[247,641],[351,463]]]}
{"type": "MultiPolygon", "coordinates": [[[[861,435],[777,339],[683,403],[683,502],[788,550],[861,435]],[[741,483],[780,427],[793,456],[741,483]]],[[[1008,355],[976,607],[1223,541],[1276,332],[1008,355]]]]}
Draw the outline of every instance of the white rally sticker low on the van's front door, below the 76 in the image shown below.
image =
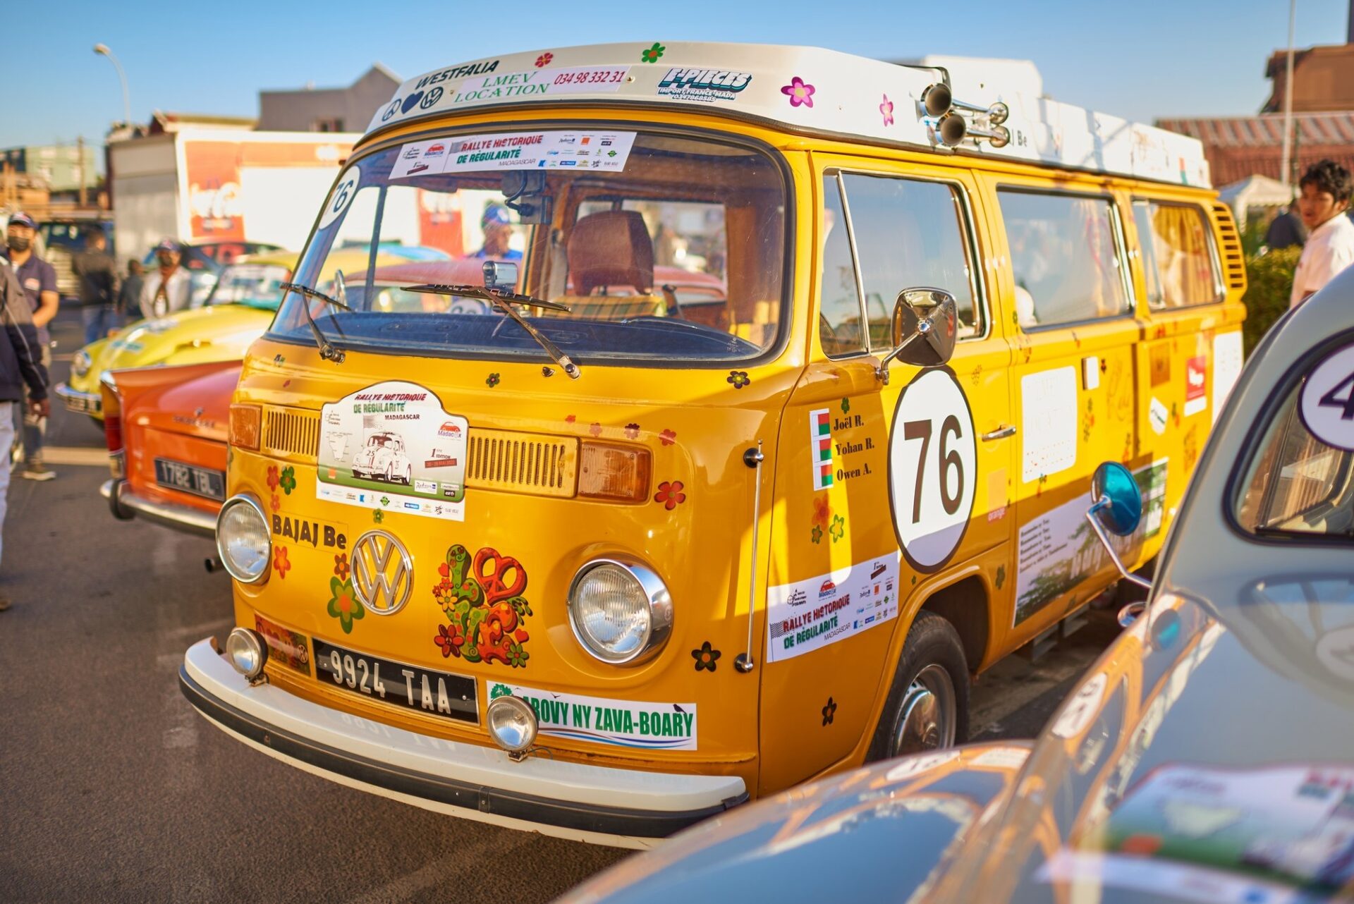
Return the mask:
{"type": "Polygon", "coordinates": [[[792,659],[898,616],[898,553],[766,590],[766,662],[792,659]]]}

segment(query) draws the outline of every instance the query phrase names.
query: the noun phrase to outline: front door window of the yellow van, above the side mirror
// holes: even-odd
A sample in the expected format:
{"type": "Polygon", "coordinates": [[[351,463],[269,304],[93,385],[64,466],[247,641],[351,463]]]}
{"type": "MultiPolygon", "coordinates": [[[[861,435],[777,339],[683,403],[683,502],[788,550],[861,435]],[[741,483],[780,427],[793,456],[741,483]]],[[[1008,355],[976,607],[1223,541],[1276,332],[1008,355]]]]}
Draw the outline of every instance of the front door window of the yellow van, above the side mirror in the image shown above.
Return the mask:
{"type": "Polygon", "coordinates": [[[872,351],[888,349],[894,302],[904,288],[933,286],[955,296],[959,338],[982,333],[968,229],[945,183],[844,173],[850,235],[865,287],[872,351]]]}

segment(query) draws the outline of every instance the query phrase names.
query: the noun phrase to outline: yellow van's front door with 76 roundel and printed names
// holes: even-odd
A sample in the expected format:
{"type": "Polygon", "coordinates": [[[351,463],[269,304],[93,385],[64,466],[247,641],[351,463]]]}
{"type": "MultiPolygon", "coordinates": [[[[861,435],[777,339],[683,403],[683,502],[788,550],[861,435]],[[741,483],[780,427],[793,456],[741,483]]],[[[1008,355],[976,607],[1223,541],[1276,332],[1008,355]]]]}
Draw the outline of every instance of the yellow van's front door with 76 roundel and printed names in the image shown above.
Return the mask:
{"type": "Polygon", "coordinates": [[[904,177],[886,161],[869,172],[815,162],[816,329],[776,456],[764,789],[864,756],[909,601],[933,575],[1005,547],[1010,524],[991,517],[1007,499],[1010,351],[991,336],[976,277],[971,185],[940,168],[904,177]],[[876,369],[894,300],[917,286],[956,296],[957,351],[944,368],[894,363],[886,383],[876,369]]]}

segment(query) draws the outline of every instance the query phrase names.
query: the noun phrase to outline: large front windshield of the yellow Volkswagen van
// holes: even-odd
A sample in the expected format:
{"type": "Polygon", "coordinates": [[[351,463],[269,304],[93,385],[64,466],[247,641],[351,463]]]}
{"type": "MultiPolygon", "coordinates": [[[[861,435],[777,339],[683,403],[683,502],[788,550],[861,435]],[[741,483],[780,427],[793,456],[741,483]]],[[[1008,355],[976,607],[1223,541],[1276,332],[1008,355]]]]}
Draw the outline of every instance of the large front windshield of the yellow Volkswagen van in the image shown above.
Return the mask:
{"type": "MultiPolygon", "coordinates": [[[[320,329],[345,349],[548,363],[493,304],[412,291],[483,287],[485,263],[505,261],[512,288],[556,303],[519,313],[580,364],[772,348],[787,263],[777,164],[731,141],[570,125],[421,137],[349,164],[295,279],[334,287],[343,271],[347,310],[309,302],[320,329]]],[[[286,296],[274,337],[311,341],[303,303],[286,296]]]]}

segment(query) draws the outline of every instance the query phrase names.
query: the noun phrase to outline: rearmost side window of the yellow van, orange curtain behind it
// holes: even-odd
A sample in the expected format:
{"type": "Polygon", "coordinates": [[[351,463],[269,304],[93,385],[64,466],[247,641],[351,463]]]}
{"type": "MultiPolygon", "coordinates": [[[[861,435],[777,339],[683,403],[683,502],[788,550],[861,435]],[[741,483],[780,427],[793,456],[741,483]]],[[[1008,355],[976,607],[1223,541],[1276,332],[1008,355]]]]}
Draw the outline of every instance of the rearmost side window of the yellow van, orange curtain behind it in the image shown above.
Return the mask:
{"type": "Polygon", "coordinates": [[[1135,200],[1147,304],[1154,310],[1223,300],[1204,211],[1192,204],[1135,200]]]}

